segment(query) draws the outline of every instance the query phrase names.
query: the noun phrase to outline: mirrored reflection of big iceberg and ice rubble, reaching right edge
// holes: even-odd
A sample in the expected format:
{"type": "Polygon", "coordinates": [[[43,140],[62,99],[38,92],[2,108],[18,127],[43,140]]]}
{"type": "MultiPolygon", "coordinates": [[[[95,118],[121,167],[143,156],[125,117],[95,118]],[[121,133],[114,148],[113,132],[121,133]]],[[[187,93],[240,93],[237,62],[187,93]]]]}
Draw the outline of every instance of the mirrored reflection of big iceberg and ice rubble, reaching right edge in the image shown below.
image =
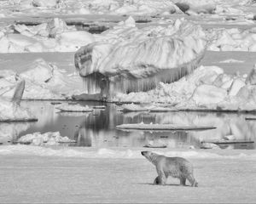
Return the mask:
{"type": "MultiPolygon", "coordinates": [[[[200,147],[202,140],[224,139],[234,135],[235,139],[255,140],[256,122],[245,121],[244,115],[217,112],[136,112],[122,113],[113,106],[107,112],[101,111],[98,116],[90,115],[81,123],[76,133],[77,145],[108,146],[140,146],[145,144],[166,144],[168,148],[200,147]],[[207,131],[172,131],[150,133],[143,131],[123,132],[115,129],[122,123],[177,123],[183,125],[215,126],[207,131]]],[[[230,144],[228,148],[237,148],[230,144]]],[[[252,149],[254,147],[250,147],[252,149]]]]}

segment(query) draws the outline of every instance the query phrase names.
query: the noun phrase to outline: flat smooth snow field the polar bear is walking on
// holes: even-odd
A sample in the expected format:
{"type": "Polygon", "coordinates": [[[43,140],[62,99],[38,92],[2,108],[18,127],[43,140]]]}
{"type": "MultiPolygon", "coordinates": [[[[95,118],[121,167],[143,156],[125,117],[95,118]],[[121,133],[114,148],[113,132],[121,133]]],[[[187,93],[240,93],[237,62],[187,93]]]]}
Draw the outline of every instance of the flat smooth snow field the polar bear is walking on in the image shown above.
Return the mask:
{"type": "MultiPolygon", "coordinates": [[[[204,152],[208,150],[200,150],[204,152]]],[[[221,152],[238,154],[237,150],[221,152]]],[[[255,150],[240,152],[255,154],[255,150]]],[[[143,156],[114,159],[1,155],[0,202],[253,203],[256,200],[255,157],[188,159],[195,167],[198,188],[179,186],[176,178],[169,178],[166,186],[153,185],[154,166],[143,156]]]]}

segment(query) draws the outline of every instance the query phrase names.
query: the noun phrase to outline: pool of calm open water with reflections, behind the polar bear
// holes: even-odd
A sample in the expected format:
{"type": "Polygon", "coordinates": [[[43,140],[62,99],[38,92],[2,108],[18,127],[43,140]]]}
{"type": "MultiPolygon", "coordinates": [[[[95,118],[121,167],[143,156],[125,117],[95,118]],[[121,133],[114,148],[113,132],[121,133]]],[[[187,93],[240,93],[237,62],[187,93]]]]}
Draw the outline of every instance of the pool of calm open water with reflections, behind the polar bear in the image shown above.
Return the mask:
{"type": "MultiPolygon", "coordinates": [[[[67,104],[68,102],[61,102],[67,104]]],[[[82,105],[103,105],[101,103],[80,103],[82,105]]],[[[55,132],[61,136],[75,139],[75,146],[87,147],[143,147],[145,144],[166,145],[168,148],[200,148],[201,141],[223,139],[226,135],[234,135],[236,139],[255,141],[256,121],[246,121],[246,116],[236,113],[214,112],[130,112],[119,111],[118,105],[108,104],[104,110],[94,110],[90,113],[57,112],[56,105],[49,101],[23,101],[23,106],[29,107],[38,122],[0,123],[3,141],[14,142],[26,133],[55,132]],[[143,132],[122,131],[115,127],[122,123],[177,123],[184,125],[215,126],[216,129],[206,131],[172,131],[143,132]],[[3,137],[3,135],[8,137],[3,137]]],[[[256,115],[255,115],[256,117],[256,115]]],[[[255,149],[254,143],[223,144],[226,149],[255,149]]]]}

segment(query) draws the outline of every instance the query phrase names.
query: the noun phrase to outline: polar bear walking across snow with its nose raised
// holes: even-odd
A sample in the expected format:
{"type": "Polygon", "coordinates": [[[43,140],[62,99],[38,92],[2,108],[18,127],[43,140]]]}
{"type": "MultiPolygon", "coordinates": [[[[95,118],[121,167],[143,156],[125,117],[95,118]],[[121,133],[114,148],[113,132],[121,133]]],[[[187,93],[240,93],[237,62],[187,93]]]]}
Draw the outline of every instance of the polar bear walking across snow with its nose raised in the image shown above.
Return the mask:
{"type": "Polygon", "coordinates": [[[168,176],[172,176],[179,178],[181,185],[185,185],[186,179],[188,179],[191,186],[198,186],[193,175],[193,166],[186,159],[158,155],[151,151],[142,151],[142,155],[156,167],[158,176],[154,179],[154,184],[166,184],[168,176]]]}

